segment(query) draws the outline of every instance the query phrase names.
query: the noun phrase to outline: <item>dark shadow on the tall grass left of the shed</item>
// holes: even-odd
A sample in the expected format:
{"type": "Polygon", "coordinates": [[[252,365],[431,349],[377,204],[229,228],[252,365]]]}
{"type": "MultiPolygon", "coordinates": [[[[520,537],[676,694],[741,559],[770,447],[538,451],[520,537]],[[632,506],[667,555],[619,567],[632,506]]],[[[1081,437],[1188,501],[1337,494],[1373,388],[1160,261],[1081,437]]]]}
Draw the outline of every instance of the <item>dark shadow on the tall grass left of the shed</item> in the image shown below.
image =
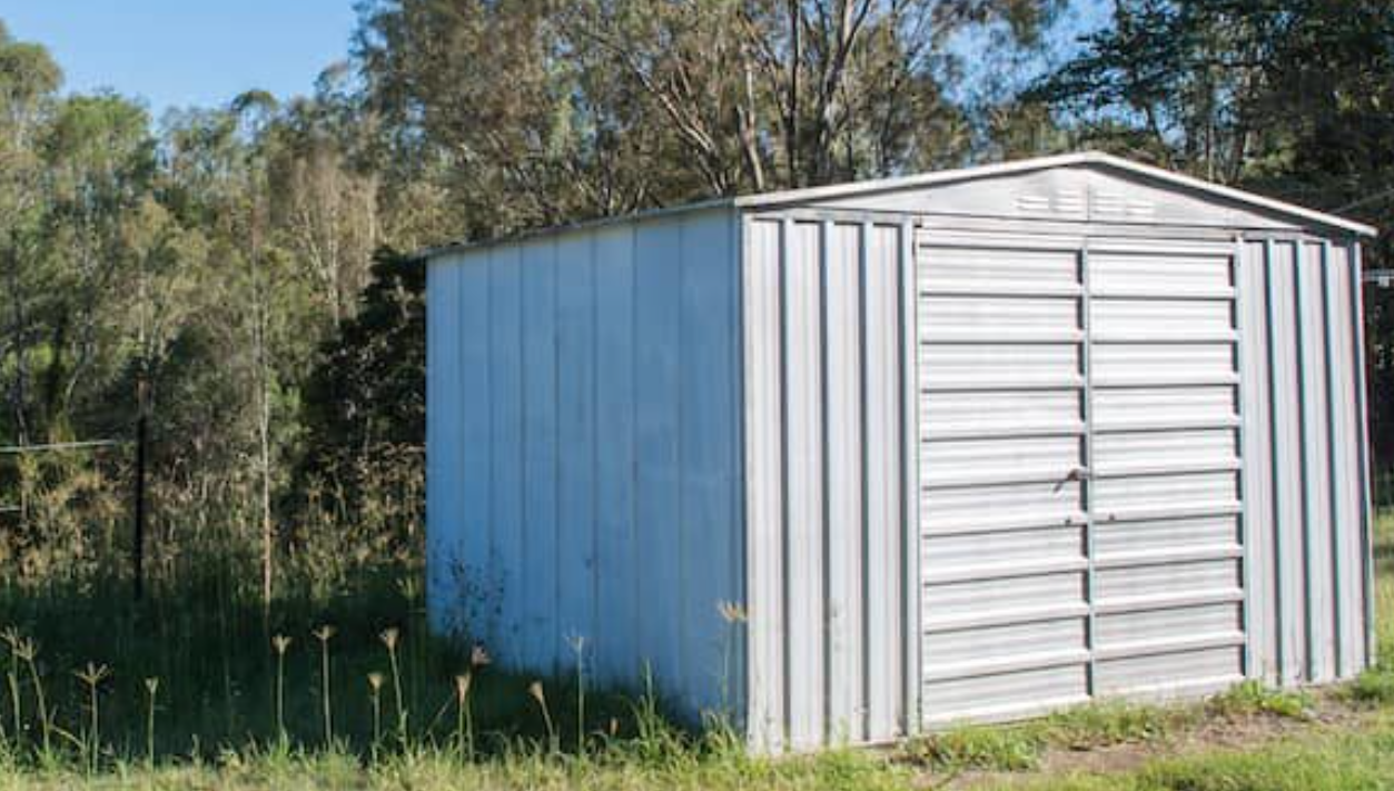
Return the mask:
{"type": "MultiPolygon", "coordinates": [[[[0,629],[13,629],[38,646],[35,670],[53,723],[68,734],[60,744],[86,739],[88,689],[74,675],[88,663],[110,668],[99,688],[99,727],[105,752],[146,755],[149,686],[159,679],[153,711],[156,756],[216,758],[224,749],[279,741],[276,689],[284,689],[283,724],[291,746],[325,744],[322,650],[312,636],[332,625],[329,709],[332,735],[343,749],[368,755],[375,745],[452,746],[460,709],[457,677],[470,671],[468,706],[475,746],[503,752],[520,741],[574,749],[579,737],[577,682],[541,679],[542,702],[530,693],[535,677],[471,665],[463,642],[429,635],[421,586],[407,572],[362,579],[354,590],[325,600],[287,597],[269,617],[229,579],[210,573],[177,586],[153,586],[135,603],[124,580],[33,589],[0,589],[0,629]],[[396,629],[393,674],[382,632],[396,629]],[[279,675],[275,636],[290,639],[279,675]],[[369,674],[378,675],[375,727],[369,674]],[[400,678],[400,688],[396,684],[400,678]],[[397,707],[400,693],[400,713],[397,707]],[[406,737],[404,739],[401,737],[406,737]]],[[[39,689],[28,665],[0,645],[7,677],[0,685],[0,724],[21,734],[22,749],[40,742],[39,689]],[[15,692],[18,695],[15,695],[15,692]]],[[[638,730],[636,695],[587,692],[588,739],[633,735],[638,730]]],[[[677,734],[679,731],[673,731],[677,734]]]]}

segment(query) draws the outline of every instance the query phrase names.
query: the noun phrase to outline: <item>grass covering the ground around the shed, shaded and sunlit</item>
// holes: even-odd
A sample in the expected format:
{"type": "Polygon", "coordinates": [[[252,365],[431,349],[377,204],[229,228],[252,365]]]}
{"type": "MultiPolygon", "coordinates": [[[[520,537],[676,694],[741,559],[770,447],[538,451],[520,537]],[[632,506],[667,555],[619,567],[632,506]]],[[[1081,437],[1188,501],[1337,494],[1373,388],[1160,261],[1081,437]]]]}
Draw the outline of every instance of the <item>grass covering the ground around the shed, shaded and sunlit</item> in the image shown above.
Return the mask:
{"type": "Polygon", "coordinates": [[[1243,684],[1203,703],[1098,703],[894,751],[782,759],[747,756],[721,727],[677,728],[652,696],[588,689],[580,640],[576,667],[538,679],[431,639],[413,573],[289,597],[269,621],[229,583],[234,569],[139,605],[103,585],[0,589],[0,628],[13,628],[0,646],[0,791],[880,790],[991,784],[1001,773],[1013,788],[1047,791],[1394,788],[1394,513],[1379,519],[1376,558],[1381,660],[1340,692],[1362,713],[1358,725],[1315,718],[1330,698],[1243,684]],[[1206,728],[1252,718],[1292,721],[1295,735],[1172,755],[1206,728]],[[1101,748],[1144,760],[1057,770],[1059,756],[1101,748]]]}

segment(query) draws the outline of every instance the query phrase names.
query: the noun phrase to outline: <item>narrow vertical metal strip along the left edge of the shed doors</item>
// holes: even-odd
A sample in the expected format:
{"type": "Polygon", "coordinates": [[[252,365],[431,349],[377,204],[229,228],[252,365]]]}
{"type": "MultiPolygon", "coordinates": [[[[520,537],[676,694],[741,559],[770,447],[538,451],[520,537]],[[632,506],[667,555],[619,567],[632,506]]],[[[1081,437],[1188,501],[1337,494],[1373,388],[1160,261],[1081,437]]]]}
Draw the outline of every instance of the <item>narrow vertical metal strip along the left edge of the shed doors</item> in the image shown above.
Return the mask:
{"type": "Polygon", "coordinates": [[[920,590],[920,329],[919,259],[914,223],[901,223],[901,559],[905,586],[902,605],[902,668],[906,735],[920,730],[921,710],[921,590],[920,590]]]}

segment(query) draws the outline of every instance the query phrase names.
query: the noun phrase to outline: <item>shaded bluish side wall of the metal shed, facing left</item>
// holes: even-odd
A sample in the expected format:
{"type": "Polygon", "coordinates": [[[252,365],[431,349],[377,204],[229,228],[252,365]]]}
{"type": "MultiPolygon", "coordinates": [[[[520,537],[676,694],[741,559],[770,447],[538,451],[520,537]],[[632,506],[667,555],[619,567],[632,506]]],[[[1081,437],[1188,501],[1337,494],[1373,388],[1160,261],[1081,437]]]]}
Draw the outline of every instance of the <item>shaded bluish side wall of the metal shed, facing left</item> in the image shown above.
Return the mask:
{"type": "Polygon", "coordinates": [[[429,266],[428,603],[505,665],[737,706],[739,268],[730,209],[429,266]],[[723,700],[722,698],[729,698],[723,700]]]}

